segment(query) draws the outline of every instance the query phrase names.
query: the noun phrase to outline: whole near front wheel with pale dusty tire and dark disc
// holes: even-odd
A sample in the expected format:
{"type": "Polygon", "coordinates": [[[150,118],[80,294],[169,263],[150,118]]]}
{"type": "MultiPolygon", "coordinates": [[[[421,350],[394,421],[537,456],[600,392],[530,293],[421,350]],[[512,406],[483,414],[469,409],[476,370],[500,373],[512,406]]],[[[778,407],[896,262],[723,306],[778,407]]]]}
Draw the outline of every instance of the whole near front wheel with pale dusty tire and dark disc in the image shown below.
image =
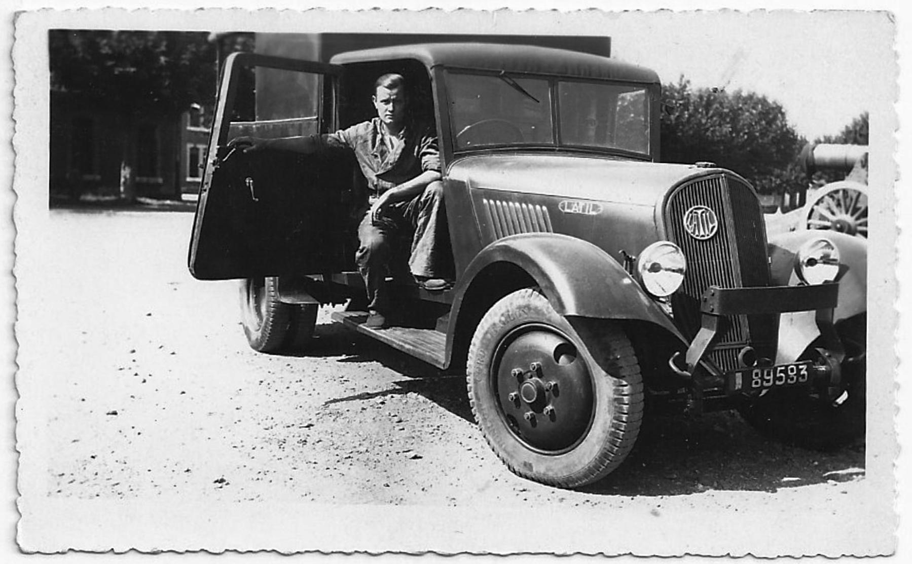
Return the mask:
{"type": "Polygon", "coordinates": [[[472,414],[514,474],[585,486],[633,448],[643,415],[637,357],[617,324],[594,339],[590,351],[537,289],[508,294],[479,323],[467,363],[472,414]]]}

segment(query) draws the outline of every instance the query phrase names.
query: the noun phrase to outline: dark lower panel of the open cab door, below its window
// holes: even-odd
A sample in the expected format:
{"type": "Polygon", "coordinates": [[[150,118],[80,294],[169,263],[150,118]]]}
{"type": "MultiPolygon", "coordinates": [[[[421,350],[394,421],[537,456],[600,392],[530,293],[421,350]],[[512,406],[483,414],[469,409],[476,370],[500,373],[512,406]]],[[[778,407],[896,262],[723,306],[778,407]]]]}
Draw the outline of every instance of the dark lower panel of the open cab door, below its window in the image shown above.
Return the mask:
{"type": "Polygon", "coordinates": [[[234,151],[213,171],[191,272],[201,280],[350,269],[353,159],[234,151]]]}

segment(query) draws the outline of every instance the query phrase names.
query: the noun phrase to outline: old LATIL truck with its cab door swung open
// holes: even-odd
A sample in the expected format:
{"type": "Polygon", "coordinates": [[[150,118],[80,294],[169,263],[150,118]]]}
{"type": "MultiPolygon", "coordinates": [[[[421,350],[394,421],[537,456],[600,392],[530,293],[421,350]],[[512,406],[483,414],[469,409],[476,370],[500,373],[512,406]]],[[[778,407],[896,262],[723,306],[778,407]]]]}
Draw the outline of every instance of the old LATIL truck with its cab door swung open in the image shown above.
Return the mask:
{"type": "Polygon", "coordinates": [[[525,39],[398,38],[326,60],[229,56],[192,275],[242,281],[257,351],[306,354],[318,308],[334,304],[335,322],[465,374],[493,452],[556,487],[621,465],[652,413],[645,405],[682,416],[736,409],[762,433],[812,448],[860,440],[864,241],[768,238],[746,179],[661,161],[654,71],[525,39]],[[254,115],[234,108],[249,69],[254,115]],[[351,154],[244,153],[229,141],[371,118],[374,80],[389,72],[407,78],[411,111],[437,130],[456,276],[432,292],[390,265],[399,320],[376,329],[354,265],[352,213],[367,196],[351,154]]]}

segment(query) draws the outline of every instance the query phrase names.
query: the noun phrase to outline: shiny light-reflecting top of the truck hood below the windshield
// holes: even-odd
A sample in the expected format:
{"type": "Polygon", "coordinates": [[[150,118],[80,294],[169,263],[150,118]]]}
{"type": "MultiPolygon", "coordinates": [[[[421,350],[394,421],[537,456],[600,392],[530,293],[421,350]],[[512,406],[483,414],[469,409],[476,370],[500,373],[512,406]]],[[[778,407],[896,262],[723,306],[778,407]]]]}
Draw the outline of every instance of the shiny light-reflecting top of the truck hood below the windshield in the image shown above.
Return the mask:
{"type": "Polygon", "coordinates": [[[457,160],[447,176],[484,190],[652,207],[681,180],[721,171],[602,156],[511,153],[457,160]]]}

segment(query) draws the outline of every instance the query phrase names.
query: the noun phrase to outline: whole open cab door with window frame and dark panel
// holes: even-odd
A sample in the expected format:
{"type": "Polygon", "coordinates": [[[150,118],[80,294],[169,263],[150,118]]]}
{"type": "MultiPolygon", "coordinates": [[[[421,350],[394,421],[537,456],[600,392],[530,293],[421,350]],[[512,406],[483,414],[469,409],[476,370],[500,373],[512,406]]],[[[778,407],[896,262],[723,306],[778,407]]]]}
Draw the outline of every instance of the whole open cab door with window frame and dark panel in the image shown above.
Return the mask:
{"type": "Polygon", "coordinates": [[[339,272],[351,261],[341,251],[346,245],[334,244],[350,237],[351,155],[228,147],[238,136],[281,138],[335,128],[341,71],[252,53],[225,60],[193,220],[189,266],[195,278],[339,272]]]}

